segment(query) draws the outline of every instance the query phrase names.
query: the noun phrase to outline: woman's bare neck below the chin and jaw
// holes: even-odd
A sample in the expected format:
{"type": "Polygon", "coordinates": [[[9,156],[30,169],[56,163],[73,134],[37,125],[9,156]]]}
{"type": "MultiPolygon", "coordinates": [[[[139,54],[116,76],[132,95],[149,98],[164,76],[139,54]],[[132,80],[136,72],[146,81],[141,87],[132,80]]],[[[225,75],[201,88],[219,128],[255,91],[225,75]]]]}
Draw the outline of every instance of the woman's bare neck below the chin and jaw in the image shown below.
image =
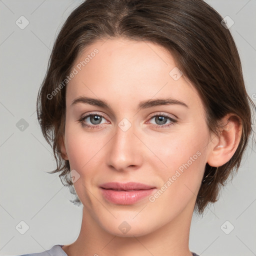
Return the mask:
{"type": "Polygon", "coordinates": [[[190,206],[167,224],[142,236],[110,234],[83,207],[80,233],[76,241],[62,249],[68,256],[191,256],[188,240],[193,205],[190,206]]]}

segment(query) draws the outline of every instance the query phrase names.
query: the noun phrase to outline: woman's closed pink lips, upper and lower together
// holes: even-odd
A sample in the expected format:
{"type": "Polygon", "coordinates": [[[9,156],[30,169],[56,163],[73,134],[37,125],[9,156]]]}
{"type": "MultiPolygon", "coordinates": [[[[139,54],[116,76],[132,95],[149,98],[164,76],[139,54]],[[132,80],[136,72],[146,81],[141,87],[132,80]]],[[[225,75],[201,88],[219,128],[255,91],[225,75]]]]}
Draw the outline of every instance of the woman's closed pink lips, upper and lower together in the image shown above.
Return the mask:
{"type": "Polygon", "coordinates": [[[156,187],[137,182],[108,182],[99,186],[103,197],[115,204],[133,204],[149,196],[156,187]]]}

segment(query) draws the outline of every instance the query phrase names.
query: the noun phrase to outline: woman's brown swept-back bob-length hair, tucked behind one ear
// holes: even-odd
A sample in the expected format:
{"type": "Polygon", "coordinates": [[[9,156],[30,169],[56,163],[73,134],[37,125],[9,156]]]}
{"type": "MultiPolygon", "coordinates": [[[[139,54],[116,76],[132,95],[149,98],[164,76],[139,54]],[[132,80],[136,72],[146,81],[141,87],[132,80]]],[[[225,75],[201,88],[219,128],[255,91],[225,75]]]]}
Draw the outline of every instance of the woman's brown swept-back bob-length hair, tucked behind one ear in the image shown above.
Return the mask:
{"type": "MultiPolygon", "coordinates": [[[[223,125],[219,121],[227,113],[237,114],[242,122],[240,142],[230,160],[219,167],[205,165],[195,203],[197,212],[203,213],[240,165],[252,131],[250,104],[255,108],[244,86],[235,43],[222,19],[203,0],[86,0],[77,6],[58,33],[37,96],[37,118],[57,165],[50,173],[59,172],[62,184],[76,195],[59,141],[65,126],[65,78],[77,55],[107,38],[150,41],[172,54],[199,93],[209,131],[219,135],[223,125]]],[[[72,202],[81,203],[77,195],[72,202]]]]}

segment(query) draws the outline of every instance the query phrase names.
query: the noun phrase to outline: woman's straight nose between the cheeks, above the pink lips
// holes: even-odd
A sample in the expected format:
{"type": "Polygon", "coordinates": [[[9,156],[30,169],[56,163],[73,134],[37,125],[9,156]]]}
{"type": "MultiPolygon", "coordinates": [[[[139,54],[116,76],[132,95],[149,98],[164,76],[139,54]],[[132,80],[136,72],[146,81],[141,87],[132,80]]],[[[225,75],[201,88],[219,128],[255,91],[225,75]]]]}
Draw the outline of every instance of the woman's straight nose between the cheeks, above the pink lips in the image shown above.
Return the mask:
{"type": "MultiPolygon", "coordinates": [[[[120,124],[120,123],[119,123],[120,124]]],[[[127,123],[125,124],[127,125],[127,123]]],[[[116,133],[109,141],[107,165],[117,171],[135,170],[143,161],[145,145],[135,134],[136,127],[131,125],[127,130],[122,125],[116,126],[116,133]]]]}

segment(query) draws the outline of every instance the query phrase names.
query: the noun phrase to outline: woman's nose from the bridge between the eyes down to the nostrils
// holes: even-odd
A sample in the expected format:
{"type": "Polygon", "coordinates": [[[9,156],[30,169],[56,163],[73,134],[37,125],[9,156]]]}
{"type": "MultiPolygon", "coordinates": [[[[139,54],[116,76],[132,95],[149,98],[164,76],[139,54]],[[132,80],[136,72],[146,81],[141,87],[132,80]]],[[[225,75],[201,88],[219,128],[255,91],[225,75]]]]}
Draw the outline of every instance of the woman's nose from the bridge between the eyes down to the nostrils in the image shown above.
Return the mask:
{"type": "Polygon", "coordinates": [[[123,118],[118,123],[108,152],[108,165],[117,170],[123,170],[129,165],[139,165],[139,139],[134,133],[135,125],[128,119],[123,118]]]}

